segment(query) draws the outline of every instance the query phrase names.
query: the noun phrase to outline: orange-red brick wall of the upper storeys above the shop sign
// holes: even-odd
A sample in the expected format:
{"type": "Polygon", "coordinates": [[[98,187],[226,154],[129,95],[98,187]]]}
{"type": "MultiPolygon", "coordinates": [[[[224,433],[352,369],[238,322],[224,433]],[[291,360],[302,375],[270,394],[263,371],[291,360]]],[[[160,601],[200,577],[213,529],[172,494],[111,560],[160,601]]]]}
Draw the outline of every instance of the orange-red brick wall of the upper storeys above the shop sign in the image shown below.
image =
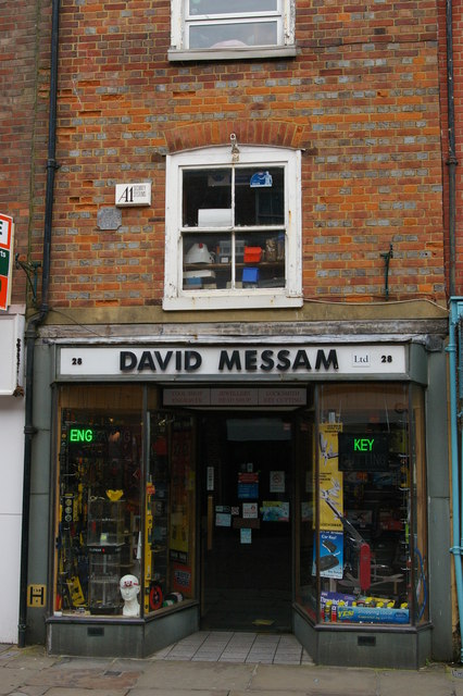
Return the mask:
{"type": "MultiPolygon", "coordinates": [[[[226,145],[232,132],[304,148],[305,298],[384,299],[392,244],[390,299],[445,299],[436,3],[296,7],[295,59],[176,64],[168,0],[63,0],[54,307],[160,304],[164,154],[226,145]],[[98,229],[115,184],[146,179],[152,207],[98,229]]],[[[35,224],[36,254],[40,237],[35,224]]]]}

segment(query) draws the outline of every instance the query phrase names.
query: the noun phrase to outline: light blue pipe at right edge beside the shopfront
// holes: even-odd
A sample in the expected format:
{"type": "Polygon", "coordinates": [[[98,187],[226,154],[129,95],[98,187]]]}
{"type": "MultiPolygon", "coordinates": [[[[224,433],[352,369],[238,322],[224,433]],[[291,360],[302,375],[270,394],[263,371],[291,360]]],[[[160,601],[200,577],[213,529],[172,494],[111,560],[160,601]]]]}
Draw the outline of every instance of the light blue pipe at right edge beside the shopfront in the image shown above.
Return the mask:
{"type": "MultiPolygon", "coordinates": [[[[453,555],[456,581],[456,600],[460,620],[460,662],[463,662],[462,646],[462,626],[463,626],[463,573],[462,573],[462,549],[463,549],[463,526],[460,526],[460,455],[459,455],[459,417],[458,397],[456,397],[456,326],[460,319],[463,319],[463,298],[450,299],[450,320],[449,320],[449,345],[447,351],[449,353],[449,381],[450,381],[450,442],[451,442],[451,461],[452,461],[452,547],[450,552],[453,555]]],[[[463,473],[463,472],[462,472],[463,473]]],[[[462,520],[463,524],[463,520],[462,520]]]]}

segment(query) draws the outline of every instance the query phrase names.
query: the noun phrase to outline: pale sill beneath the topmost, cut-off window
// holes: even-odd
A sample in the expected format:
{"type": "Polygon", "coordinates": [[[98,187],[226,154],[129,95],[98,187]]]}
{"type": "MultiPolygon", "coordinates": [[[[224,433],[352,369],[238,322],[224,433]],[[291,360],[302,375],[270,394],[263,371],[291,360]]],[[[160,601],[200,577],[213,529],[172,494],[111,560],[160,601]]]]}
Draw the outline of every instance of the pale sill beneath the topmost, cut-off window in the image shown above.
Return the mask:
{"type": "Polygon", "coordinates": [[[250,46],[246,48],[202,48],[191,50],[171,48],[167,51],[167,59],[171,62],[266,60],[270,58],[295,58],[296,55],[296,45],[268,48],[250,46]]]}

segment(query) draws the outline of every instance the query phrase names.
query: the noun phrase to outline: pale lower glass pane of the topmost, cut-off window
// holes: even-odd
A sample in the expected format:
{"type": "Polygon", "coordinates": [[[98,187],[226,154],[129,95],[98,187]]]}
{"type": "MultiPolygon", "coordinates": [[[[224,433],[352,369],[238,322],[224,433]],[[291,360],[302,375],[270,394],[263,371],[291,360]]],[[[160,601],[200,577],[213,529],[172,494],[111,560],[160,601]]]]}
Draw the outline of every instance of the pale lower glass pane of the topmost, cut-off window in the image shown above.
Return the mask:
{"type": "Polygon", "coordinates": [[[189,27],[189,48],[275,46],[277,42],[277,22],[233,22],[189,27]]]}

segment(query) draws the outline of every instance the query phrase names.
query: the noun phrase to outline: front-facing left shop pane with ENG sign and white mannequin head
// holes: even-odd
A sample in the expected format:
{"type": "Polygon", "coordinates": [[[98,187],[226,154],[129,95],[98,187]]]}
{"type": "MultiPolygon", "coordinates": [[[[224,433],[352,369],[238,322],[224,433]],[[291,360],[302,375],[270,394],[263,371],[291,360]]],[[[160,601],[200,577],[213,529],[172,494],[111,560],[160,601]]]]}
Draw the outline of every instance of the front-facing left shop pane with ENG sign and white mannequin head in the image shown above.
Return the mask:
{"type": "Polygon", "coordinates": [[[55,610],[138,616],[141,393],[90,387],[85,400],[92,408],[73,407],[79,389],[68,395],[61,411],[55,610]]]}

